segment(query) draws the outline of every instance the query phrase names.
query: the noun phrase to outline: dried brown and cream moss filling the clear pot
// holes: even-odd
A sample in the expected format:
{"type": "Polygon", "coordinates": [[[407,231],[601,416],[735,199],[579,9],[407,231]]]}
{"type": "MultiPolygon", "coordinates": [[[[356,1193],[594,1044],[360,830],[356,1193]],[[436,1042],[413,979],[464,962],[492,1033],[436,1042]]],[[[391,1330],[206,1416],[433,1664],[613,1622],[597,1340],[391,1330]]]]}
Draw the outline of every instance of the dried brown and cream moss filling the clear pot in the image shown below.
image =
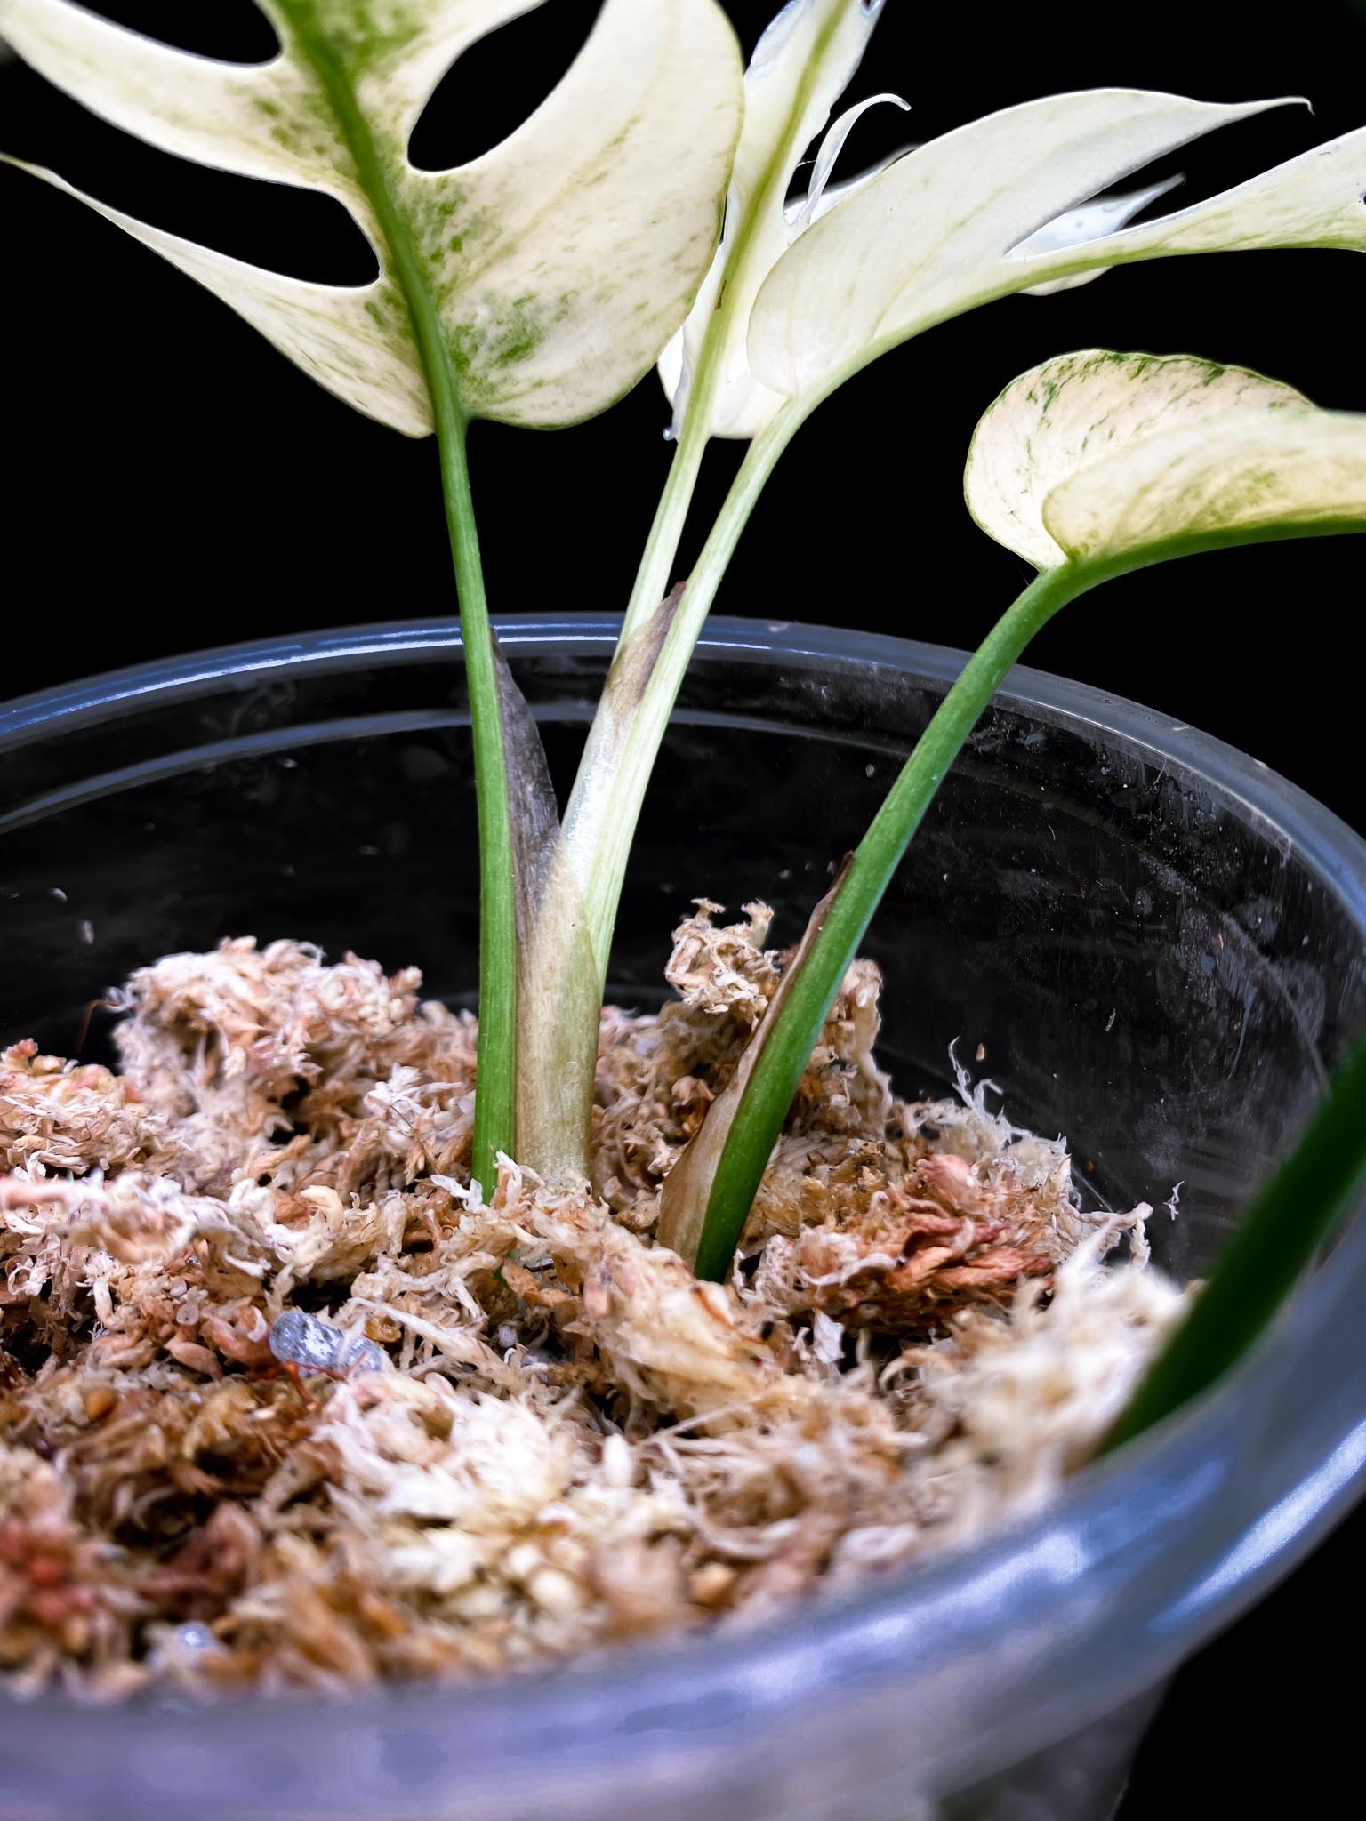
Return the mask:
{"type": "Polygon", "coordinates": [[[228,941],[133,976],[118,1074],[0,1058],[13,1686],[501,1673],[752,1623],[1053,1493],[1180,1307],[1104,1264],[1146,1209],[1084,1215],[1064,1147],[965,1082],[896,1102],[858,963],[734,1280],[696,1282],[659,1184],[783,963],[765,907],[714,910],[674,1003],[603,1014],[568,1189],[470,1191],[475,1029],[412,969],[228,941]],[[286,1309],[379,1369],[284,1377],[286,1309]]]}

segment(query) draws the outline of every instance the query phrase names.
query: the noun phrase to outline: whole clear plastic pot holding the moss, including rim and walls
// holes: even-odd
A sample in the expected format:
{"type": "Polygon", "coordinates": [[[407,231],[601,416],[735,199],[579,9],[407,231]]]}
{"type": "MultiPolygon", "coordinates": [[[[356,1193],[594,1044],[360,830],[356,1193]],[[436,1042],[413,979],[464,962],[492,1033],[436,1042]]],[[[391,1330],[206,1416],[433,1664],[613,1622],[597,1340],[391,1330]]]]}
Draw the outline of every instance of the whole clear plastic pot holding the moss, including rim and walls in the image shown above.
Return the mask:
{"type": "MultiPolygon", "coordinates": [[[[612,634],[503,626],[561,776],[612,634]]],[[[658,998],[703,892],[767,898],[792,938],[960,661],[714,621],[636,841],[614,994],[658,998]]],[[[0,1038],[69,1053],[133,965],[226,932],[417,961],[450,998],[474,980],[446,625],[29,697],[0,712],[0,1038]]],[[[1366,1020],[1364,936],[1366,847],[1326,810],[1213,739],[1018,670],[869,951],[898,1087],[942,1089],[949,1042],[969,1063],[984,1045],[1013,1114],[1065,1131],[1100,1196],[1158,1206],[1182,1182],[1155,1242],[1189,1273],[1366,1020]]],[[[1095,1821],[1144,1697],[1351,1499],[1364,1295],[1357,1220],[1217,1395],[1045,1515],[761,1630],[333,1703],[0,1701],[0,1817],[905,1821],[956,1796],[954,1814],[1095,1821]]]]}

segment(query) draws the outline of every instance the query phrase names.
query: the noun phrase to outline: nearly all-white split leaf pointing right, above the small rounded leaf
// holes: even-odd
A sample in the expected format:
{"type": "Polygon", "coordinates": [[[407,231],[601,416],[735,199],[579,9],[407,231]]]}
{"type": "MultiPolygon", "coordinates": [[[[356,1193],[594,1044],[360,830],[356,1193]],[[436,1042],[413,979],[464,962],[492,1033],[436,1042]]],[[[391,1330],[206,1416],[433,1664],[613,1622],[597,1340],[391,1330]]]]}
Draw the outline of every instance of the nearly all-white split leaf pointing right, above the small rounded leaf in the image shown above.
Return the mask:
{"type": "Polygon", "coordinates": [[[1095,89],[1025,102],[920,146],[778,260],[749,324],[756,377],[781,399],[814,401],[934,322],[1127,260],[1269,246],[1366,249],[1366,131],[1357,131],[1178,213],[1031,251],[1040,224],[1191,138],[1275,106],[1095,89]]]}

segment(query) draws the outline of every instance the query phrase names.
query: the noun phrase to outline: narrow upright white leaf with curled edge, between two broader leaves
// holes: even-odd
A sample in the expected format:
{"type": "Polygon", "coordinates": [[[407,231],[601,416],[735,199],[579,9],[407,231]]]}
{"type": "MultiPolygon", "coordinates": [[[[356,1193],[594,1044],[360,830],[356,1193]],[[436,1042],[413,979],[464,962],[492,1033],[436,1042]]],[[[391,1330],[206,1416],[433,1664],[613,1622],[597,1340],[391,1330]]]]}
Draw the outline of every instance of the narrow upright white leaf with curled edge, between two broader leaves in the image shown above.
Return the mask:
{"type": "MultiPolygon", "coordinates": [[[[883,0],[789,0],[759,38],[745,73],[745,126],[730,173],[721,246],[685,326],[659,359],[676,430],[723,284],[725,346],[716,355],[710,433],[756,435],[781,404],[749,368],[745,326],[774,260],[805,226],[785,208],[789,184],[858,69],[882,7],[883,0]]],[[[898,97],[880,98],[905,106],[898,97]]],[[[851,109],[831,129],[831,137],[838,135],[834,151],[860,111],[851,109]]],[[[831,157],[821,169],[821,188],[832,162],[831,157]]]]}

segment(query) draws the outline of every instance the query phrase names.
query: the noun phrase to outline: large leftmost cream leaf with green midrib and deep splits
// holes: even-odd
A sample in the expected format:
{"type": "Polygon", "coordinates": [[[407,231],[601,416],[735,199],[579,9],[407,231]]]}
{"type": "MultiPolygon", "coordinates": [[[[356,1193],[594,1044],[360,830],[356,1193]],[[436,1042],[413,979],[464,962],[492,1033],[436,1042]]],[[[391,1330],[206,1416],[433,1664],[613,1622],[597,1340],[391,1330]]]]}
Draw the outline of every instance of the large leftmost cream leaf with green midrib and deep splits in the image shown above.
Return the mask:
{"type": "Polygon", "coordinates": [[[421,317],[444,342],[466,415],[572,422],[650,368],[716,244],[741,80],[714,0],[607,0],[565,80],[503,144],[455,171],[408,162],[448,66],[539,4],[262,0],[280,51],[260,66],[191,56],[67,0],[0,0],[0,31],[153,146],[341,198],[375,248],[373,284],[259,271],[93,206],[331,392],[423,433],[421,317]]]}

